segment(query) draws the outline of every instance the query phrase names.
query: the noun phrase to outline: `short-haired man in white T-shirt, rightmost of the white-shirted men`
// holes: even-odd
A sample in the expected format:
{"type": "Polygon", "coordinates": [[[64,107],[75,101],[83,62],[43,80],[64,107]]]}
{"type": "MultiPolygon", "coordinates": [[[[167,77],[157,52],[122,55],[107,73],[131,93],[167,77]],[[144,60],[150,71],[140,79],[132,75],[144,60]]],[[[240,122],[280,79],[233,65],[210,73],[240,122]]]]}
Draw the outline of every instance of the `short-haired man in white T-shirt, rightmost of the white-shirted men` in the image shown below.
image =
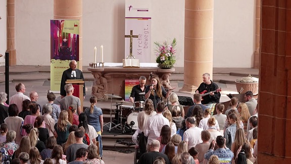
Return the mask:
{"type": "Polygon", "coordinates": [[[201,132],[203,129],[195,126],[195,119],[193,117],[188,117],[186,119],[187,130],[184,132],[183,140],[188,145],[188,150],[191,147],[195,147],[197,144],[202,143],[201,132]]]}

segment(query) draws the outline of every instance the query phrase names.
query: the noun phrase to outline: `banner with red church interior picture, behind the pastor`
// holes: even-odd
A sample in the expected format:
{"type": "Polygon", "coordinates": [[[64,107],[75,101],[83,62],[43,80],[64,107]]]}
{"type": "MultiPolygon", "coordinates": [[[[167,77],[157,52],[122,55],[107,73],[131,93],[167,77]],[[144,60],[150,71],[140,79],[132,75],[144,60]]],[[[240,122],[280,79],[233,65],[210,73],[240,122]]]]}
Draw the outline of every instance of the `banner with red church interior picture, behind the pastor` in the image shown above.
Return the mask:
{"type": "Polygon", "coordinates": [[[71,60],[79,61],[79,20],[51,20],[52,91],[60,91],[63,71],[71,60]]]}

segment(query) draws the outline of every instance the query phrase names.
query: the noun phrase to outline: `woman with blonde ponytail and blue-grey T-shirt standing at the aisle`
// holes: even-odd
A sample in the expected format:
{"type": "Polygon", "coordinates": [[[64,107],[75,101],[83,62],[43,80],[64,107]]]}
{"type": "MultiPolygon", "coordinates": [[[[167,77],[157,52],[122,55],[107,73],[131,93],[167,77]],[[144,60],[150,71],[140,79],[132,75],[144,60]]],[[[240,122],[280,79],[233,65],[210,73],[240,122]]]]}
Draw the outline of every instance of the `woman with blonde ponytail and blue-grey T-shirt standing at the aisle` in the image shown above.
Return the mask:
{"type": "Polygon", "coordinates": [[[102,145],[102,136],[103,133],[103,112],[102,109],[97,107],[97,97],[90,97],[90,108],[85,109],[85,114],[87,115],[88,124],[93,126],[96,133],[98,134],[99,142],[99,152],[100,156],[103,155],[103,145],[102,145]]]}

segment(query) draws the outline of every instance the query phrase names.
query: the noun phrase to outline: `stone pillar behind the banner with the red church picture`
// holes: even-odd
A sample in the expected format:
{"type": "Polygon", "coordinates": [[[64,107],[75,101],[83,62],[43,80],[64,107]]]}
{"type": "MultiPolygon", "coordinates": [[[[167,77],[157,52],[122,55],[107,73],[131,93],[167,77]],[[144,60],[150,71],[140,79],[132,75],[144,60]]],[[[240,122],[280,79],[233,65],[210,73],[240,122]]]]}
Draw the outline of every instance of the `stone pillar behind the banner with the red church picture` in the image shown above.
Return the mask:
{"type": "Polygon", "coordinates": [[[83,66],[83,1],[82,0],[54,0],[54,19],[80,20],[79,25],[79,69],[83,66]]]}

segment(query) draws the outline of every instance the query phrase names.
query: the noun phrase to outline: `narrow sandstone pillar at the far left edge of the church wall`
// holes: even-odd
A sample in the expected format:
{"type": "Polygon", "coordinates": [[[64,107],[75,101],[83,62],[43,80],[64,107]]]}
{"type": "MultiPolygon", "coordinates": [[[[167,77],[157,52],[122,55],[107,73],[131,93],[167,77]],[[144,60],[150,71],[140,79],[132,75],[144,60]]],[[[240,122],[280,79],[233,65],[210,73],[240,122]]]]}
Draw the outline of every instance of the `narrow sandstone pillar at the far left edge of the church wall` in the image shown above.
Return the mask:
{"type": "Polygon", "coordinates": [[[7,52],[9,52],[9,65],[16,65],[15,0],[7,0],[7,52]]]}

